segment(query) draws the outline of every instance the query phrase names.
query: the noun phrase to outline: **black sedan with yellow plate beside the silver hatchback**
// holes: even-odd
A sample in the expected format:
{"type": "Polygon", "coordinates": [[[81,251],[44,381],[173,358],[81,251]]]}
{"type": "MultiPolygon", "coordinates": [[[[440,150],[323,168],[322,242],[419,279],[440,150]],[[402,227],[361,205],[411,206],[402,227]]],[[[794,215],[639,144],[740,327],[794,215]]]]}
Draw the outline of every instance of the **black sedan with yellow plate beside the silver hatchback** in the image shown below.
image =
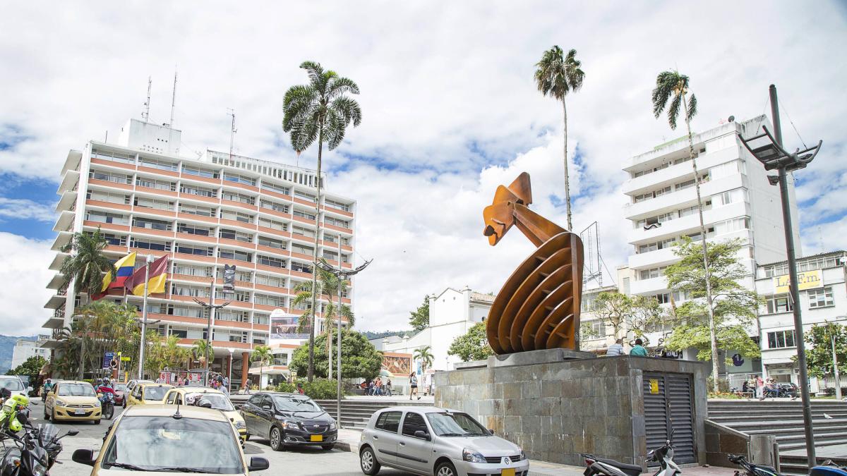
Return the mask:
{"type": "Polygon", "coordinates": [[[241,416],[247,434],[267,438],[274,451],[285,446],[331,450],[338,440],[335,419],[311,398],[297,393],[257,393],[241,406],[241,416]]]}

